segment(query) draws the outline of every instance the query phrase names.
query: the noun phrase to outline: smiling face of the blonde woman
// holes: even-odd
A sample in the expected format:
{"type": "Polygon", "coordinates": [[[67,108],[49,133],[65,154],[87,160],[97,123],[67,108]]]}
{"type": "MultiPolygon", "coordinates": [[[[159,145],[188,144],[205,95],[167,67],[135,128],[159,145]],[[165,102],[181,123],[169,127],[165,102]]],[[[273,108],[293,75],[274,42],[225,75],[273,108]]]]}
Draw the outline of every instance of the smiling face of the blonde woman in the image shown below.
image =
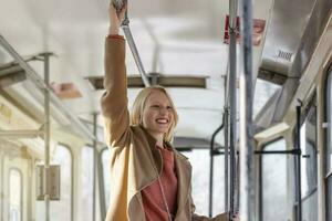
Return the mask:
{"type": "Polygon", "coordinates": [[[174,120],[174,109],[162,91],[153,91],[143,109],[143,126],[155,138],[163,138],[174,120]]]}

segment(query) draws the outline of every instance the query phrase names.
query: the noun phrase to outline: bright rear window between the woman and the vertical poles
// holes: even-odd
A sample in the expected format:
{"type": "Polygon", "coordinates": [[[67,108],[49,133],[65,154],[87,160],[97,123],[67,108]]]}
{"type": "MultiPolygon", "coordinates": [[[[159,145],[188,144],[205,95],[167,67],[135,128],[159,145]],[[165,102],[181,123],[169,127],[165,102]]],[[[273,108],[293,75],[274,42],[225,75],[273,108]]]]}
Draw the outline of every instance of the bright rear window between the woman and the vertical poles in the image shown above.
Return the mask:
{"type": "MultiPolygon", "coordinates": [[[[183,152],[189,158],[193,166],[191,187],[193,200],[196,206],[196,213],[208,214],[209,201],[209,160],[210,155],[207,149],[194,149],[193,151],[183,152]]],[[[224,212],[224,155],[214,158],[214,197],[212,197],[212,215],[224,212]]]]}

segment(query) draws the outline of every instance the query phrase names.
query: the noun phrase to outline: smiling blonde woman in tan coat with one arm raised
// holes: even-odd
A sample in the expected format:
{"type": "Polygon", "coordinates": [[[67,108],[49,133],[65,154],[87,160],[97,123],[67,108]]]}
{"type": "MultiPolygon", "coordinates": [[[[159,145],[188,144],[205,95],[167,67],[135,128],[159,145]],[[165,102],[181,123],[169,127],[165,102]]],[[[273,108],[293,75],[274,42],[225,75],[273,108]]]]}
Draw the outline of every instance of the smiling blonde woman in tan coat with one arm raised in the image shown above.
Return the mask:
{"type": "Polygon", "coordinates": [[[226,221],[194,213],[188,159],[169,141],[177,113],[163,87],[148,87],[127,110],[125,40],[118,35],[126,7],[110,6],[110,30],[105,43],[105,94],[102,113],[111,147],[110,221],[226,221]]]}

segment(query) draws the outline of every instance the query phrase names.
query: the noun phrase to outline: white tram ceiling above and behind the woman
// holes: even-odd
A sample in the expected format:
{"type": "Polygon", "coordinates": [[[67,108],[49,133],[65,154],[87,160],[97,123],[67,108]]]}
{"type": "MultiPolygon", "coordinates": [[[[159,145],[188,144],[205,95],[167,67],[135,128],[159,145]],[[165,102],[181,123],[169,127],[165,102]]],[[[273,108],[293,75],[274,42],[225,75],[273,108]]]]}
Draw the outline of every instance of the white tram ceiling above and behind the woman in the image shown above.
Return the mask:
{"type": "MultiPolygon", "coordinates": [[[[268,24],[272,2],[255,1],[253,17],[268,24]]],[[[100,113],[101,93],[92,91],[84,77],[97,77],[104,72],[107,6],[108,0],[4,0],[0,8],[0,34],[21,55],[41,51],[52,51],[58,55],[50,63],[51,82],[74,83],[79,87],[82,97],[61,102],[84,119],[91,119],[92,113],[100,113]]],[[[184,0],[176,4],[167,0],[129,1],[131,29],[146,71],[160,73],[165,78],[188,75],[199,78],[190,83],[196,88],[199,84],[199,88],[190,87],[189,94],[170,88],[183,115],[179,135],[188,136],[195,130],[195,136],[208,138],[221,122],[222,76],[228,65],[228,44],[222,40],[228,11],[228,1],[219,0],[184,0]],[[193,97],[190,102],[188,97],[193,97]],[[204,112],[203,105],[209,110],[204,112]],[[193,118],[196,125],[190,123],[193,118]]],[[[255,46],[255,69],[261,61],[262,49],[263,41],[255,46]]],[[[0,64],[4,62],[7,57],[0,51],[0,64]]],[[[138,73],[129,51],[126,63],[127,73],[138,73]]],[[[37,70],[37,73],[42,75],[42,71],[37,70]]],[[[129,96],[133,91],[135,88],[129,88],[129,96]]],[[[129,104],[133,97],[129,97],[129,104]]]]}

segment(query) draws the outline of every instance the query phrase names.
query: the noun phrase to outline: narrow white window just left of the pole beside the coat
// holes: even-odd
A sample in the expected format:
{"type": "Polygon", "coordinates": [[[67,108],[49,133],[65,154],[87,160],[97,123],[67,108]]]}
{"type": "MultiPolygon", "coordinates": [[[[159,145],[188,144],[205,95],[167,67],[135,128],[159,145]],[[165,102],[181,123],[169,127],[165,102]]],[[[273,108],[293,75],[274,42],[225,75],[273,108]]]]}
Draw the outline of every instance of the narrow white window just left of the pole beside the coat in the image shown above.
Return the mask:
{"type": "Polygon", "coordinates": [[[90,221],[93,220],[93,148],[83,147],[81,158],[81,214],[80,220],[90,221]]]}

